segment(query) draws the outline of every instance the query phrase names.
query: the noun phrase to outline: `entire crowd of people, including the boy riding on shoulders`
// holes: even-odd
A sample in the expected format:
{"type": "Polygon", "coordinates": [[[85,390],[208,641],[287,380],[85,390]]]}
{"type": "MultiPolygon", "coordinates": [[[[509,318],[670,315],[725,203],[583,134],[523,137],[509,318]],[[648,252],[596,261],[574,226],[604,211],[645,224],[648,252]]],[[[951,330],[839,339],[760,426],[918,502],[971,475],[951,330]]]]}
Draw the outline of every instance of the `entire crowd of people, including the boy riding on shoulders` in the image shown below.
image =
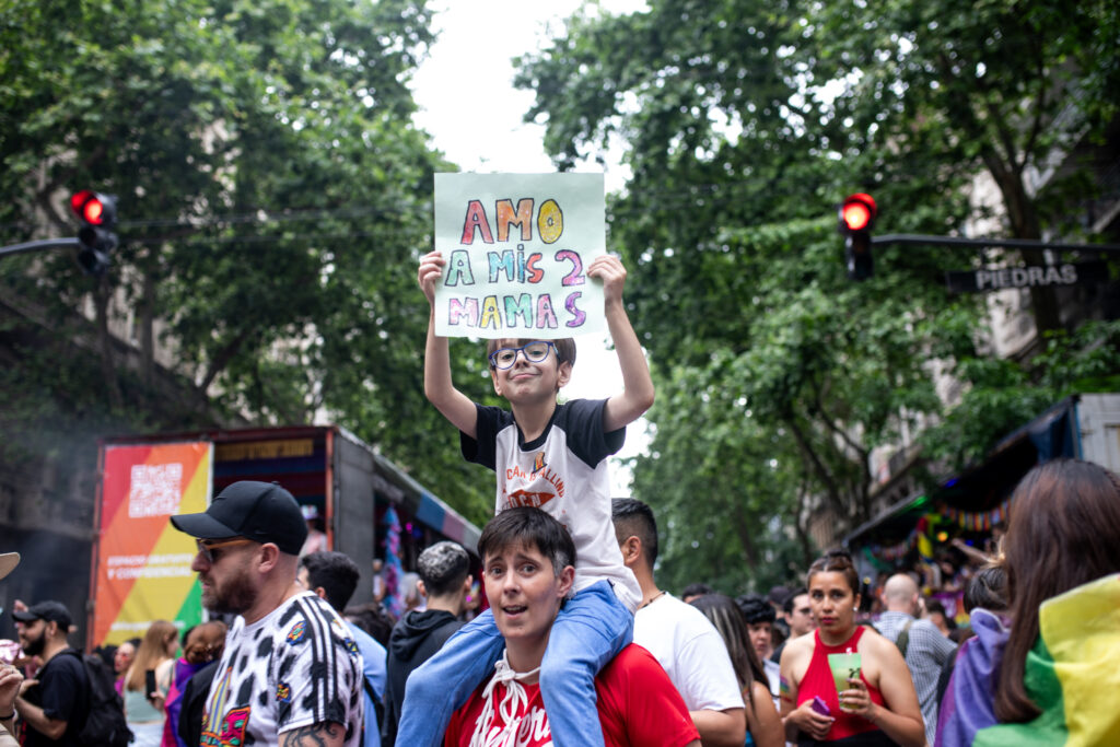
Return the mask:
{"type": "MultiPolygon", "coordinates": [[[[432,305],[445,265],[438,252],[421,260],[432,305]]],[[[121,644],[105,660],[114,689],[105,662],[69,646],[64,606],[21,606],[21,659],[0,669],[0,739],[18,730],[32,747],[1116,744],[1120,478],[1079,460],[1036,467],[1016,488],[1006,535],[973,551],[967,575],[937,563],[869,585],[833,550],[804,569],[802,586],[769,597],[697,583],[679,598],[657,583],[654,510],[609,492],[606,457],[653,401],[622,302],[626,272],[600,256],[586,274],[604,286],[619,395],[558,402],[572,340],[494,339],[491,375],[510,409],[484,407],[455,387],[447,339],[429,327],[426,395],[459,430],[465,458],[497,477],[495,517],[472,549],[487,609],[467,614],[472,558],[454,542],[420,553],[423,603],[400,619],[376,605],[348,608],[353,560],[307,551],[308,516],[280,485],[234,483],[205,512],[170,520],[195,538],[192,569],[212,622],[181,634],[153,623],[121,644]],[[952,629],[955,609],[926,599],[950,583],[962,587],[971,637],[952,629]]],[[[0,575],[12,566],[0,557],[0,575]]]]}

